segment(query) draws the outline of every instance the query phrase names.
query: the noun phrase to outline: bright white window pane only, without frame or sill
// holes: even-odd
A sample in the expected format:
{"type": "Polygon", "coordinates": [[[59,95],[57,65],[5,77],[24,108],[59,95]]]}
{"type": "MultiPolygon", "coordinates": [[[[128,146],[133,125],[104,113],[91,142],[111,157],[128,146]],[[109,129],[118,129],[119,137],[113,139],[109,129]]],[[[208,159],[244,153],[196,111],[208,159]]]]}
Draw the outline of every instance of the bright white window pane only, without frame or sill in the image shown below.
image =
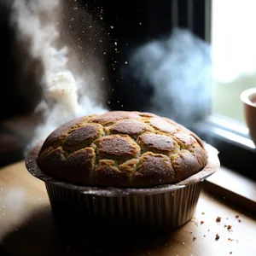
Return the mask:
{"type": "Polygon", "coordinates": [[[244,123],[240,95],[256,86],[256,2],[212,1],[212,112],[244,123]]]}

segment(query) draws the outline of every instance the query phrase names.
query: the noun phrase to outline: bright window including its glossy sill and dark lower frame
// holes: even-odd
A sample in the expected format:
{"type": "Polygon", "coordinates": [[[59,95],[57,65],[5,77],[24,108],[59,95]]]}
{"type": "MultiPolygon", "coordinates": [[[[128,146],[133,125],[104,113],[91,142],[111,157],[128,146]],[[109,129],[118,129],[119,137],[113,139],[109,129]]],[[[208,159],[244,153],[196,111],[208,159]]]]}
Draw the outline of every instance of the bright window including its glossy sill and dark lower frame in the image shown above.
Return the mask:
{"type": "Polygon", "coordinates": [[[248,136],[240,95],[256,86],[256,2],[206,3],[206,39],[212,45],[212,113],[195,125],[195,131],[218,148],[223,166],[255,178],[256,150],[248,136]]]}

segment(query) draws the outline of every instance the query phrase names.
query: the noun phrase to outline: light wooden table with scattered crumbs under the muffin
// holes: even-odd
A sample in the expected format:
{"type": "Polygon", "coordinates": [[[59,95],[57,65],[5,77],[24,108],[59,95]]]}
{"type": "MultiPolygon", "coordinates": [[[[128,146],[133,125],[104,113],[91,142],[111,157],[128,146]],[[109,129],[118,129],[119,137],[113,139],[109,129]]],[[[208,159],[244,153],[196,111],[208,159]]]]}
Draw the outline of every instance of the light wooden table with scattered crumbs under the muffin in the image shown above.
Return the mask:
{"type": "Polygon", "coordinates": [[[55,227],[44,183],[26,172],[24,162],[0,169],[0,241],[12,255],[254,256],[256,221],[242,211],[202,191],[195,217],[173,233],[70,241],[55,227]]]}

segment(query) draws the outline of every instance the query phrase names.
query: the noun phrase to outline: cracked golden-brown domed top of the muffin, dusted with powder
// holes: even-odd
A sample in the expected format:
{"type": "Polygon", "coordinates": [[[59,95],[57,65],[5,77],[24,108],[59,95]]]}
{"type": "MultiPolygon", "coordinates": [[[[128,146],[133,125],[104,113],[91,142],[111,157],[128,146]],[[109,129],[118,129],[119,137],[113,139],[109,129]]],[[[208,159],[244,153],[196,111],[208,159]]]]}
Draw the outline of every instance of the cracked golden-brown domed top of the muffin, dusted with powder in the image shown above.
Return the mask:
{"type": "Polygon", "coordinates": [[[178,183],[207,165],[193,132],[153,113],[110,111],[73,119],[38,154],[43,172],[68,183],[145,188],[178,183]]]}

